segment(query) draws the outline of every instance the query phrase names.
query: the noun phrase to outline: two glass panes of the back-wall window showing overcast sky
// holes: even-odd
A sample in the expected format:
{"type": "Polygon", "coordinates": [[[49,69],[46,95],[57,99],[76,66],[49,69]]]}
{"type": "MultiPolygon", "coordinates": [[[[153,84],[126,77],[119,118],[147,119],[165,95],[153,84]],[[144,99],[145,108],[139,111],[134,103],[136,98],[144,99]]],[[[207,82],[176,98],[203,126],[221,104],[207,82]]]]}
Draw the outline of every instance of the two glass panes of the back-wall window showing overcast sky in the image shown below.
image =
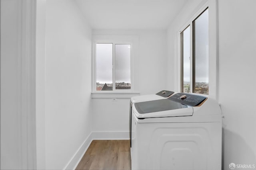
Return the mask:
{"type": "Polygon", "coordinates": [[[96,43],[96,91],[127,89],[131,89],[131,44],[96,43]]]}

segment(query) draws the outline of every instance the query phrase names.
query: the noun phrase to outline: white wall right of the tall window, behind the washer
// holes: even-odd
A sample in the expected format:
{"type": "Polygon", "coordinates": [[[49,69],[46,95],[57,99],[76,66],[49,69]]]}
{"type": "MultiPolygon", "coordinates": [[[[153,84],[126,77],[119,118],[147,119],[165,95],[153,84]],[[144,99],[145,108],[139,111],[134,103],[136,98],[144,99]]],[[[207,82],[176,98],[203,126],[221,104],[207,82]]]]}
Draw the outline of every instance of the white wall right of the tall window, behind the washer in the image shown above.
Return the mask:
{"type": "Polygon", "coordinates": [[[256,165],[256,1],[219,0],[223,162],[256,165]]]}

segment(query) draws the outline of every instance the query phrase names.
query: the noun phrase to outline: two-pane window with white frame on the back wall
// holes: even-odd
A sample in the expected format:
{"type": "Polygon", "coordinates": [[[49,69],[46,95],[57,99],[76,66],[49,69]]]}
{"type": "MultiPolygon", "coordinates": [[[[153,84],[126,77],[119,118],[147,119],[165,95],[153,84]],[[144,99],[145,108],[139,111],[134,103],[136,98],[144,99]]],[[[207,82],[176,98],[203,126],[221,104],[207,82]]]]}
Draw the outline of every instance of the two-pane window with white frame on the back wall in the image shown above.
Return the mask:
{"type": "Polygon", "coordinates": [[[92,92],[132,92],[134,38],[94,36],[92,92]]]}

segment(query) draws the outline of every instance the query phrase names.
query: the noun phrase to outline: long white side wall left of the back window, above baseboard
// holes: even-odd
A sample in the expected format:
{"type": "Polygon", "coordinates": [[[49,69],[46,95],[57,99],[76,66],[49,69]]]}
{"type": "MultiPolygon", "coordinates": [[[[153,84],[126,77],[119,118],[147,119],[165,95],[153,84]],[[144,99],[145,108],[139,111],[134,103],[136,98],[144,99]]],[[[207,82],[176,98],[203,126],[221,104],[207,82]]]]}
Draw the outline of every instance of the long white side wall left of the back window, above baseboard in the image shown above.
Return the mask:
{"type": "Polygon", "coordinates": [[[75,2],[47,0],[46,169],[74,168],[92,131],[91,51],[91,29],[75,2]]]}

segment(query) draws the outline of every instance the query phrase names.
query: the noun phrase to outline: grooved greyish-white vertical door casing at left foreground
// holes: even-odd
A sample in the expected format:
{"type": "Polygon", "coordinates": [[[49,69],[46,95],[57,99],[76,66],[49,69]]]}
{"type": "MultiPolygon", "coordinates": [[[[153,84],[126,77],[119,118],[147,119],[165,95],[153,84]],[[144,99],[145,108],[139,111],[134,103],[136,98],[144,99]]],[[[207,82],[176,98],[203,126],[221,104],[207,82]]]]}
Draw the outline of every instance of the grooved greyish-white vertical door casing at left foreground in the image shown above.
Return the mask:
{"type": "Polygon", "coordinates": [[[22,169],[36,169],[36,1],[23,0],[18,8],[22,169]]]}

